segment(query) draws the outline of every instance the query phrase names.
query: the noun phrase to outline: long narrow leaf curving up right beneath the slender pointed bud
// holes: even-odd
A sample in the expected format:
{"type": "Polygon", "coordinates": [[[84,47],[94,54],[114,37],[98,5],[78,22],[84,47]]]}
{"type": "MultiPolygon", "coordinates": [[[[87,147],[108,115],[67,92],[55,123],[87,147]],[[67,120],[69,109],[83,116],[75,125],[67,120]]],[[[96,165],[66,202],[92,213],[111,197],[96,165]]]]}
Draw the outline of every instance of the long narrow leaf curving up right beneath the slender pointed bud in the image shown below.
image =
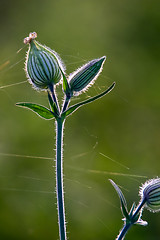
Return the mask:
{"type": "Polygon", "coordinates": [[[77,103],[73,106],[71,106],[70,108],[68,108],[63,114],[62,116],[65,117],[65,116],[69,116],[70,114],[72,114],[74,111],[76,111],[79,107],[87,104],[87,103],[90,103],[90,102],[93,102],[95,100],[97,100],[98,98],[101,98],[103,97],[104,95],[106,95],[107,93],[109,93],[115,86],[115,82],[104,92],[100,93],[99,95],[97,96],[94,96],[92,98],[89,98],[83,102],[80,102],[80,103],[77,103]]]}

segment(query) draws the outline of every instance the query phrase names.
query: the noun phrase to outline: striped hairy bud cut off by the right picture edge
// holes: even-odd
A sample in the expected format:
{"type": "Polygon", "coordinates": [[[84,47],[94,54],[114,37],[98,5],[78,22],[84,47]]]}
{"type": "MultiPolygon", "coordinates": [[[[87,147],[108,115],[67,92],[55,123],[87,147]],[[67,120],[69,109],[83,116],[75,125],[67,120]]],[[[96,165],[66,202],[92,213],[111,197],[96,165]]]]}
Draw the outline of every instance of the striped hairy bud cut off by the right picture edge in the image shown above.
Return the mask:
{"type": "Polygon", "coordinates": [[[152,212],[160,211],[160,178],[154,178],[145,182],[139,192],[141,200],[152,212]]]}

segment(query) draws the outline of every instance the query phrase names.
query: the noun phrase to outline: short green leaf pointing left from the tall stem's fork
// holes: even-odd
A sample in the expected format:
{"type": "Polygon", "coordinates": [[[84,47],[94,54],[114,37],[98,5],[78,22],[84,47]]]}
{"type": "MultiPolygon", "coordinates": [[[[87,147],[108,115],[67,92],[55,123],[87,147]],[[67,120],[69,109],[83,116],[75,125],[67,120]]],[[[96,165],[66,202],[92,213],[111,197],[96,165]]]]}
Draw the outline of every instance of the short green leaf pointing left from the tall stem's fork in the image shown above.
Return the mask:
{"type": "Polygon", "coordinates": [[[28,108],[44,119],[50,120],[54,118],[54,113],[44,106],[35,103],[16,103],[16,105],[19,107],[28,108]]]}

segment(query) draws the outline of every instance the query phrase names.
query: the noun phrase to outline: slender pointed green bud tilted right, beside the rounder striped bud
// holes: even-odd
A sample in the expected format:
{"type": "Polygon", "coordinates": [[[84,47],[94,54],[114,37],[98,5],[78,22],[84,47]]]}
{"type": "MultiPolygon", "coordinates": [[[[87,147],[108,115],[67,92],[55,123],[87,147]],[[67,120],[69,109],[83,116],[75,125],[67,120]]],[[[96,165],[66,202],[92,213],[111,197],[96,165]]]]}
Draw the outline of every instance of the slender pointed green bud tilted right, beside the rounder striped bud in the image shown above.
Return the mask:
{"type": "Polygon", "coordinates": [[[69,76],[69,85],[72,94],[79,95],[86,91],[97,79],[102,71],[106,57],[94,59],[69,76]]]}

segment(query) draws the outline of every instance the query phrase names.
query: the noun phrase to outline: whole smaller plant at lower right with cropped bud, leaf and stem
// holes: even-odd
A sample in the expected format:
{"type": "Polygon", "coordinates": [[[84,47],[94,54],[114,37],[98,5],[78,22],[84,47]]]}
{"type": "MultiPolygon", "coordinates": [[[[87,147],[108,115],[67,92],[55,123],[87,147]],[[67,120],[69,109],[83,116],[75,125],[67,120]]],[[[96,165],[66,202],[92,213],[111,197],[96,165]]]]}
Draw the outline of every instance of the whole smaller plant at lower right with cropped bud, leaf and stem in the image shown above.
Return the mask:
{"type": "Polygon", "coordinates": [[[151,212],[160,211],[160,178],[150,179],[140,187],[139,195],[141,200],[139,204],[132,204],[131,210],[128,213],[126,200],[120,188],[112,180],[110,180],[115,190],[118,193],[121,202],[121,209],[124,215],[122,219],[124,226],[120,230],[116,240],[123,240],[130,227],[134,224],[146,226],[148,223],[142,220],[142,213],[144,208],[148,208],[151,212]]]}

